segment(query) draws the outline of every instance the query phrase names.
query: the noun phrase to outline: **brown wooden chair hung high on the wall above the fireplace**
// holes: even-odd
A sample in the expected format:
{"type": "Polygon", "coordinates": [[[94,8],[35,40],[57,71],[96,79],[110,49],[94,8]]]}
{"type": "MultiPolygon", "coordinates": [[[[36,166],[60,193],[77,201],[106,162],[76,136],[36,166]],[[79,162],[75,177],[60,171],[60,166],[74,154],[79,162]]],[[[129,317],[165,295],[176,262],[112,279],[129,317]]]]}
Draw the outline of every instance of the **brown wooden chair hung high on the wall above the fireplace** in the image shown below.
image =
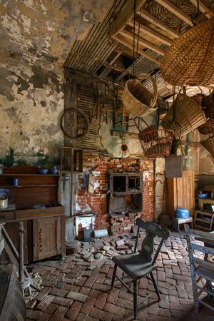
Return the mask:
{"type": "Polygon", "coordinates": [[[95,99],[95,105],[91,116],[91,121],[94,117],[98,119],[103,114],[108,123],[108,113],[113,113],[113,127],[116,125],[116,97],[111,96],[110,88],[106,81],[101,79],[93,79],[91,81],[93,89],[93,96],[95,99]]]}

